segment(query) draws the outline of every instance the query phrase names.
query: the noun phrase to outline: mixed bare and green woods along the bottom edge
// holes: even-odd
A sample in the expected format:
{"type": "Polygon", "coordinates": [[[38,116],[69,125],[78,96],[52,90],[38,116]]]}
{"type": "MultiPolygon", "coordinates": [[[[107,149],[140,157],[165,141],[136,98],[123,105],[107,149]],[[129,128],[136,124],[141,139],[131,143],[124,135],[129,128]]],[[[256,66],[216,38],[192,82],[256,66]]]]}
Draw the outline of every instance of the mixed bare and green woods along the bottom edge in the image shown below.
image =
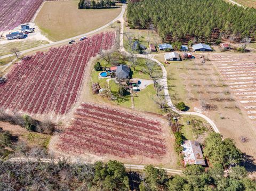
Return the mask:
{"type": "MultiPolygon", "coordinates": [[[[10,137],[5,133],[0,140],[8,145],[10,137]]],[[[244,156],[233,140],[211,132],[205,139],[204,155],[210,161],[207,170],[201,165],[188,165],[183,175],[175,176],[153,165],[146,165],[142,172],[126,171],[123,163],[111,160],[84,164],[67,159],[57,162],[52,156],[47,156],[47,163],[0,159],[0,190],[256,190],[256,182],[239,165],[244,156]]]]}

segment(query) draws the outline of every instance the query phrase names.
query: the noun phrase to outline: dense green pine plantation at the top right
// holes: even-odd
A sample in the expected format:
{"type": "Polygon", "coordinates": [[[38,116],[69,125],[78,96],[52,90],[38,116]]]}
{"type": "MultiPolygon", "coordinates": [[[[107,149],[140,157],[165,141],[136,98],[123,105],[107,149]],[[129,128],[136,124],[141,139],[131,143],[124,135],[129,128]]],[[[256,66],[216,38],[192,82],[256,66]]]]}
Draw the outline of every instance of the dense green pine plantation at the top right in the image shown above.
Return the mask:
{"type": "Polygon", "coordinates": [[[215,41],[256,36],[256,10],[223,0],[143,0],[128,3],[130,28],[154,29],[166,41],[215,41]]]}

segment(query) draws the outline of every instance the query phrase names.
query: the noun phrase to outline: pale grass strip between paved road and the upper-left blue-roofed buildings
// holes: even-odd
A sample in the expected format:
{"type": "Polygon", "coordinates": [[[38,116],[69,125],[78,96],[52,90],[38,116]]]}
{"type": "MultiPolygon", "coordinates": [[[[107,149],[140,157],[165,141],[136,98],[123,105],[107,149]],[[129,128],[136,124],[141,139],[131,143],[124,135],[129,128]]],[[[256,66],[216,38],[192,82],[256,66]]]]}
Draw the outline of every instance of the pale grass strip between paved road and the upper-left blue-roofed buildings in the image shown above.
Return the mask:
{"type": "Polygon", "coordinates": [[[49,44],[46,40],[25,40],[25,41],[15,41],[1,45],[0,56],[11,54],[11,48],[18,48],[19,51],[25,49],[34,48],[36,46],[49,44]]]}

